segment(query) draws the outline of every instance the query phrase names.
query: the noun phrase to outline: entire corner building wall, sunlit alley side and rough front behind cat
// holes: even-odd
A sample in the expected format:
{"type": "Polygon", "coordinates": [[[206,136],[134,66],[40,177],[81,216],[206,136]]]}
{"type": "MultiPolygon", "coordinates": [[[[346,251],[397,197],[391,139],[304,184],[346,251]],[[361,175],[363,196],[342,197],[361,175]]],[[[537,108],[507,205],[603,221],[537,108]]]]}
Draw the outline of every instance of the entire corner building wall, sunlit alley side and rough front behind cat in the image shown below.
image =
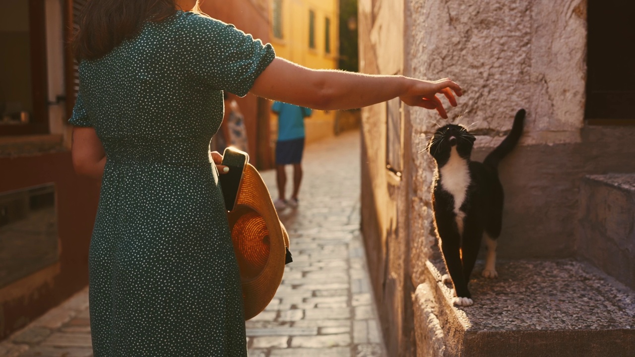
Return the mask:
{"type": "Polygon", "coordinates": [[[516,111],[528,112],[499,167],[502,259],[574,257],[583,177],[635,172],[635,126],[585,124],[586,8],[585,0],[359,1],[361,72],[451,77],[465,89],[448,121],[404,108],[400,179],[385,166],[385,104],[363,110],[363,229],[389,351],[410,351],[412,306],[398,294],[424,281],[435,244],[434,162],[424,147],[438,126],[469,126],[481,161],[516,111]]]}

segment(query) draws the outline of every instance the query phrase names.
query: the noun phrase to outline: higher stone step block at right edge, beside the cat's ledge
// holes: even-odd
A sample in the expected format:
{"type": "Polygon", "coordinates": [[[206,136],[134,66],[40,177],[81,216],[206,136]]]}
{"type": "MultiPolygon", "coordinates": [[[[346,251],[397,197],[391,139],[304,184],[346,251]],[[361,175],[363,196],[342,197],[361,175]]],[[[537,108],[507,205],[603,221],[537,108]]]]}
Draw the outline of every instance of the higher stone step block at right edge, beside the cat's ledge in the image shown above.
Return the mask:
{"type": "Polygon", "coordinates": [[[578,253],[635,289],[635,174],[587,176],[580,199],[578,253]]]}

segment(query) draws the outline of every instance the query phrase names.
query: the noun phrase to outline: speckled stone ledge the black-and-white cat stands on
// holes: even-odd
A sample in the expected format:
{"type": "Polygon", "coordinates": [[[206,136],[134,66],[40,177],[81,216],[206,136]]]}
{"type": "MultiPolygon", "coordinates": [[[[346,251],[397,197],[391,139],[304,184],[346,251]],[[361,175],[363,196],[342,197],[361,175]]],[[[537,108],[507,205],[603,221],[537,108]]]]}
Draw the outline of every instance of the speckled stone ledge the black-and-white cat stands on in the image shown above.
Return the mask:
{"type": "Polygon", "coordinates": [[[418,356],[632,356],[635,293],[574,260],[499,261],[497,280],[477,262],[474,305],[451,305],[443,260],[426,262],[413,295],[418,356]]]}

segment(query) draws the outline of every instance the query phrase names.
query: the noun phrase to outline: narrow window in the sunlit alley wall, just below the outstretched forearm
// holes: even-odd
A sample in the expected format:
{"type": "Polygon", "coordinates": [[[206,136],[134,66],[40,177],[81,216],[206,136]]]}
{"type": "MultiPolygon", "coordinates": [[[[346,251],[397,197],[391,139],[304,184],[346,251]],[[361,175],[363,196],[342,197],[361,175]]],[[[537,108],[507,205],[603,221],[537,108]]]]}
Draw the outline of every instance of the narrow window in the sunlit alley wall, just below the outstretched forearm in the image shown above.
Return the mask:
{"type": "Polygon", "coordinates": [[[386,104],[386,125],[386,168],[401,177],[403,130],[401,129],[401,100],[399,98],[391,99],[386,104]]]}

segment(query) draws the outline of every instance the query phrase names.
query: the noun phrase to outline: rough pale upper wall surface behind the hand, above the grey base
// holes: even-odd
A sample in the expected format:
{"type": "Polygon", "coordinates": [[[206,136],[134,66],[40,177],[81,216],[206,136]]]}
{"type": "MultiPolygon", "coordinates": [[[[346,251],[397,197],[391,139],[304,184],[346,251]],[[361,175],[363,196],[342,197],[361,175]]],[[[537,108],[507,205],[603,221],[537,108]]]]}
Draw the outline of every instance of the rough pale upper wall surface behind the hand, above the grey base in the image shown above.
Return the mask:
{"type": "MultiPolygon", "coordinates": [[[[451,120],[474,123],[488,136],[509,130],[510,115],[524,107],[527,144],[578,141],[585,9],[585,0],[406,1],[406,74],[462,84],[465,95],[451,120]]],[[[442,121],[420,110],[412,119],[424,130],[434,128],[426,120],[442,121]]]]}

